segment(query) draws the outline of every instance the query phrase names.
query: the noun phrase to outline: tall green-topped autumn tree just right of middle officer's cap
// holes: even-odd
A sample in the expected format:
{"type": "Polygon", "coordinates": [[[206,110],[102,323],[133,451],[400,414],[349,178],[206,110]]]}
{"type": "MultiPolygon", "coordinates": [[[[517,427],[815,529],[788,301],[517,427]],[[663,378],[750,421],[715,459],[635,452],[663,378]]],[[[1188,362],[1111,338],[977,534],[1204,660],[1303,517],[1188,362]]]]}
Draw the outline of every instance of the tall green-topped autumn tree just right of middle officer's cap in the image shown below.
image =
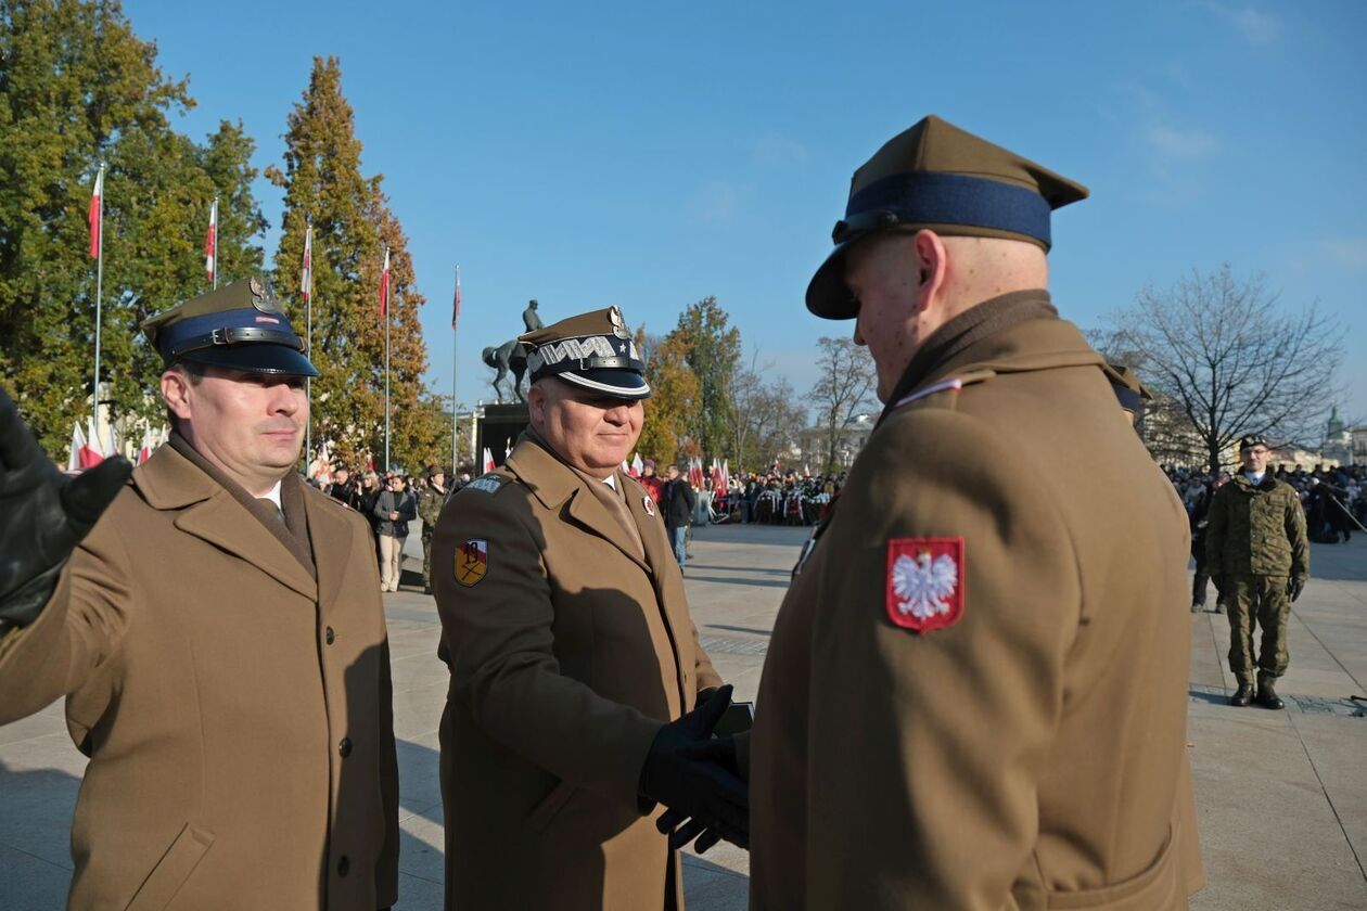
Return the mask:
{"type": "Polygon", "coordinates": [[[697,408],[689,415],[689,436],[701,452],[718,459],[729,455],[734,412],[731,378],[741,359],[741,331],[730,325],[726,310],[708,296],[679,314],[668,337],[686,351],[688,366],[697,378],[697,408]]]}

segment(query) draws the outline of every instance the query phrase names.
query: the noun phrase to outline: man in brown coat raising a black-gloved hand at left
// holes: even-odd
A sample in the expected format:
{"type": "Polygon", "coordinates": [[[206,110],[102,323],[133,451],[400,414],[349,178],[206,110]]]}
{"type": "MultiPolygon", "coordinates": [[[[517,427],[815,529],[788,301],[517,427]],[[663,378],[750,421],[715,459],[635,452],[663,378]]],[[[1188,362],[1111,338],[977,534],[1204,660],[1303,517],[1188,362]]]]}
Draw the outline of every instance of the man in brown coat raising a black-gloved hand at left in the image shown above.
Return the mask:
{"type": "Polygon", "coordinates": [[[295,471],[317,374],[257,279],[145,331],[176,432],[127,485],[0,402],[0,724],[64,695],[90,757],[70,907],[385,908],[388,646],[366,523],[295,471]]]}

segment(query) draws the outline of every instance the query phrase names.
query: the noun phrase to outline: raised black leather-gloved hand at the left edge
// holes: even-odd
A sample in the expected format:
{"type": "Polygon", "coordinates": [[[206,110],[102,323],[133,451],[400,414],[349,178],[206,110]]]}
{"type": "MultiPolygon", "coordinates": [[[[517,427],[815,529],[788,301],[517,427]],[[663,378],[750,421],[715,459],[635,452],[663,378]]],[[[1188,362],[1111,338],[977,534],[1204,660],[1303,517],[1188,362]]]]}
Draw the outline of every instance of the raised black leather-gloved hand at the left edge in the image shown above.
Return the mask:
{"type": "Polygon", "coordinates": [[[131,473],[127,459],[112,458],[68,479],[0,389],[0,634],[38,619],[62,567],[131,473]]]}

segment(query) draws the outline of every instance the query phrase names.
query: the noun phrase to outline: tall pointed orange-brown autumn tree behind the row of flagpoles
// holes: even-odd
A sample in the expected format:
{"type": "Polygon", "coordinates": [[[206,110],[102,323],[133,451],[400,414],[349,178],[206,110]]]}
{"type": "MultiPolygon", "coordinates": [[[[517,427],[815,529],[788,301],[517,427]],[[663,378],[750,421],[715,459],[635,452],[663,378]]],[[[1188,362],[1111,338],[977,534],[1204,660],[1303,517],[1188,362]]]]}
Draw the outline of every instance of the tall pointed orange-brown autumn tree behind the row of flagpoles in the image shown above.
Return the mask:
{"type": "Polygon", "coordinates": [[[364,176],[355,116],[342,94],[336,57],[314,57],[309,86],[290,112],[284,169],[267,176],[284,188],[284,224],[275,257],[278,291],[291,320],[306,324],[301,264],[313,225],[313,436],[331,440],[334,455],[353,466],[384,453],[384,318],[380,275],[390,247],[391,460],[409,470],[444,463],[448,419],[442,399],[422,384],[427,346],[407,239],[381,191],[380,175],[364,176]]]}

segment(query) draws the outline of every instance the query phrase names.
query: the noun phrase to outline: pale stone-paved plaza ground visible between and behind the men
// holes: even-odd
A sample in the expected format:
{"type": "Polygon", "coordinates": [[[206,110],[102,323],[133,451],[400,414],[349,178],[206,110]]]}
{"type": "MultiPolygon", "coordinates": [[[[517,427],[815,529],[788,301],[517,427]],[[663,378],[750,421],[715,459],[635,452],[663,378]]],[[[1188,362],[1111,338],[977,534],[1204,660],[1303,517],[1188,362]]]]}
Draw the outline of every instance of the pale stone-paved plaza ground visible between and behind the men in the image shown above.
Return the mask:
{"type": "MultiPolygon", "coordinates": [[[[697,530],[686,575],[693,617],[738,699],[753,699],[759,688],[774,615],[805,535],[782,527],[697,530]]],[[[414,534],[405,589],[385,595],[405,911],[442,907],[436,728],[447,673],[436,660],[436,609],[414,572],[417,544],[414,534]]],[[[1314,545],[1312,570],[1293,608],[1290,671],[1278,686],[1286,712],[1229,706],[1228,623],[1192,615],[1188,739],[1207,884],[1193,908],[1367,908],[1367,535],[1314,545]]],[[[1143,687],[1144,668],[1132,672],[1143,687]]],[[[0,728],[0,908],[63,907],[83,766],[60,702],[0,728]]],[[[731,845],[688,856],[689,907],[744,908],[746,873],[748,855],[731,845]]]]}

